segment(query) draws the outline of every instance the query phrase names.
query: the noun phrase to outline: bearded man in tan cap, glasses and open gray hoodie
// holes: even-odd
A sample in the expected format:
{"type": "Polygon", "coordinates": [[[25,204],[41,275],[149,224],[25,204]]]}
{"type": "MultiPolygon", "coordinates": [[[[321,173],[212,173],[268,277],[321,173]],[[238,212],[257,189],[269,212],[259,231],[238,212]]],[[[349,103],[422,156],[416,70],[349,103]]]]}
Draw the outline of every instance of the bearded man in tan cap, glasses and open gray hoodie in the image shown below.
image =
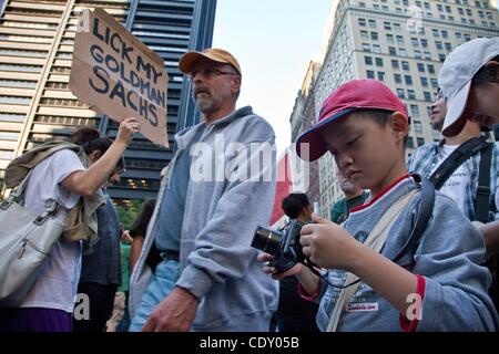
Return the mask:
{"type": "Polygon", "coordinates": [[[278,289],[251,242],[274,206],[274,131],[251,106],[236,110],[242,71],[227,51],[189,52],[179,67],[203,122],[175,135],[131,277],[130,331],[268,331],[278,289]],[[247,162],[253,156],[259,168],[247,162]],[[145,258],[153,242],[163,260],[152,273],[145,258]]]}

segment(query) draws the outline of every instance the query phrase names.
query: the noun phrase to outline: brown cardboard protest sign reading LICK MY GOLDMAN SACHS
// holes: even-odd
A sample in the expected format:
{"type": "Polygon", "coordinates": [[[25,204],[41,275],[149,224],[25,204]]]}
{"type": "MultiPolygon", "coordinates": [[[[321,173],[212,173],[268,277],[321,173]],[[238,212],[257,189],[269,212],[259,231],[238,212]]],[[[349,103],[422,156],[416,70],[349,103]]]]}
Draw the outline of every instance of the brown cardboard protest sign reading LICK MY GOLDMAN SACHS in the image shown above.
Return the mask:
{"type": "Polygon", "coordinates": [[[102,9],[83,9],[69,86],[90,108],[115,122],[135,117],[151,142],[169,146],[169,76],[160,55],[102,9]]]}

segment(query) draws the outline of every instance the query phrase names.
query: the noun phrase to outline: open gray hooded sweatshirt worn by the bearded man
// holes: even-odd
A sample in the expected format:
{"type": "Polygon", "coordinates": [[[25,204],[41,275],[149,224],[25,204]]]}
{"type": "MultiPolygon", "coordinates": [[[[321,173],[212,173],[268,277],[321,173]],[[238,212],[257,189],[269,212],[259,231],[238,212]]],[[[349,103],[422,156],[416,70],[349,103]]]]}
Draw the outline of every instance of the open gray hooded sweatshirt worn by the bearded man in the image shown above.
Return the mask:
{"type": "Polygon", "coordinates": [[[268,225],[274,206],[275,135],[249,106],[175,135],[177,152],[163,178],[130,279],[130,314],[134,316],[151,279],[145,258],[156,236],[171,170],[179,154],[203,128],[198,144],[191,149],[176,285],[201,301],[193,331],[218,331],[228,323],[231,329],[247,330],[247,323],[235,323],[237,319],[269,319],[278,301],[277,282],[262,271],[258,252],[251,247],[256,227],[268,225]]]}

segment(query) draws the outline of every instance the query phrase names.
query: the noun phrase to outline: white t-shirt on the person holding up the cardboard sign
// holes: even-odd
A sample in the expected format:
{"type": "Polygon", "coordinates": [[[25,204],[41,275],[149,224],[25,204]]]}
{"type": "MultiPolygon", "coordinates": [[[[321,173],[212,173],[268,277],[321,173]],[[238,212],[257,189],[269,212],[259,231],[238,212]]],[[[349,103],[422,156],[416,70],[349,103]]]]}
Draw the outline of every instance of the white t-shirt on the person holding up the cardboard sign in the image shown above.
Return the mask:
{"type": "MultiPolygon", "coordinates": [[[[61,181],[78,170],[84,170],[78,155],[63,149],[48,157],[33,168],[24,195],[24,207],[38,212],[49,200],[59,202],[58,220],[64,221],[79,195],[65,189],[61,181]]],[[[53,246],[51,256],[41,266],[40,275],[20,308],[45,308],[73,312],[74,296],[81,270],[81,241],[61,238],[53,246]]]]}

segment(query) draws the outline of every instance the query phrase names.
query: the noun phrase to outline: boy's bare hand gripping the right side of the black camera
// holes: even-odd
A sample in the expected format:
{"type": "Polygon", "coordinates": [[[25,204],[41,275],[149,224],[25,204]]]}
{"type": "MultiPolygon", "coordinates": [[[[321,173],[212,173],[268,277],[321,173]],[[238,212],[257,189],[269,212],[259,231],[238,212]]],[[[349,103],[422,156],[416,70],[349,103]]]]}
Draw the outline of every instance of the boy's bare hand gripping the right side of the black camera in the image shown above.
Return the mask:
{"type": "Polygon", "coordinates": [[[355,261],[355,249],[361,246],[340,226],[314,214],[314,223],[302,228],[303,253],[323,268],[348,270],[355,261]]]}

